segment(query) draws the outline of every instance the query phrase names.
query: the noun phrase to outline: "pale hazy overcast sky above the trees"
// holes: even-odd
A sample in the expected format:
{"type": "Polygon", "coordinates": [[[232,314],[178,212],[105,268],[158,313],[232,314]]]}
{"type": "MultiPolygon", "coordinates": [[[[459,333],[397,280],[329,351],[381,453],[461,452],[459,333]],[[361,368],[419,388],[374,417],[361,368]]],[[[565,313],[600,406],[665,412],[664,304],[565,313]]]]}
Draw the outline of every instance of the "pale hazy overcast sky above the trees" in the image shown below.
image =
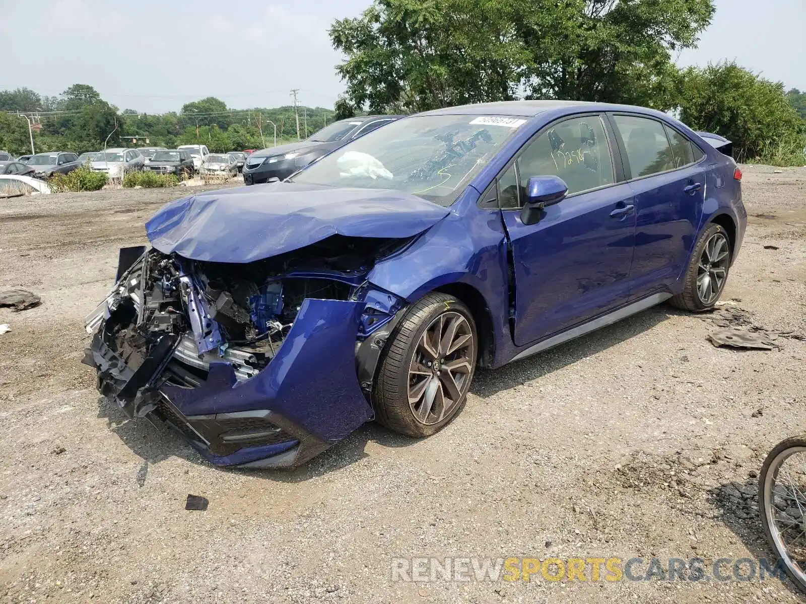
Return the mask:
{"type": "MultiPolygon", "coordinates": [[[[330,47],[334,19],[371,0],[0,0],[0,89],[56,95],[93,85],[106,101],[148,113],[215,96],[238,109],[332,106],[343,90],[330,47]]],[[[806,89],[806,0],[717,0],[700,48],[679,64],[736,59],[806,89]]]]}

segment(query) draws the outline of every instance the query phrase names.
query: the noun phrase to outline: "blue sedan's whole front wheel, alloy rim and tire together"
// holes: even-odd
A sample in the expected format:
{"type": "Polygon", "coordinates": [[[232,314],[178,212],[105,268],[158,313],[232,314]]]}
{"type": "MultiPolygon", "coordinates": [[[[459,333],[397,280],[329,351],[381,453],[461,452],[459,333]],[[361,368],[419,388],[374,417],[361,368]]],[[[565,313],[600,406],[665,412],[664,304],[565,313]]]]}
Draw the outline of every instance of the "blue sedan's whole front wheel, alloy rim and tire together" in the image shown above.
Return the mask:
{"type": "Polygon", "coordinates": [[[476,369],[476,324],[447,294],[409,308],[387,344],[372,400],[376,420],[409,436],[430,436],[459,412],[476,369]]]}

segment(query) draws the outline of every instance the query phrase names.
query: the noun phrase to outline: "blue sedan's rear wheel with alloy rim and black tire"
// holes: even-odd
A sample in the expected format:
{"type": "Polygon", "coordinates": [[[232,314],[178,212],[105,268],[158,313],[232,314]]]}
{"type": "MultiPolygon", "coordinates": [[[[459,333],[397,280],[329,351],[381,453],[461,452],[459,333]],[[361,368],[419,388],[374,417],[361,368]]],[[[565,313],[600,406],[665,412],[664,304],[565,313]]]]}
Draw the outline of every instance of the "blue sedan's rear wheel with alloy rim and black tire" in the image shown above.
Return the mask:
{"type": "Polygon", "coordinates": [[[683,280],[683,292],[671,299],[678,308],[698,312],[719,300],[730,269],[730,240],[720,225],[710,225],[694,246],[683,280]]]}

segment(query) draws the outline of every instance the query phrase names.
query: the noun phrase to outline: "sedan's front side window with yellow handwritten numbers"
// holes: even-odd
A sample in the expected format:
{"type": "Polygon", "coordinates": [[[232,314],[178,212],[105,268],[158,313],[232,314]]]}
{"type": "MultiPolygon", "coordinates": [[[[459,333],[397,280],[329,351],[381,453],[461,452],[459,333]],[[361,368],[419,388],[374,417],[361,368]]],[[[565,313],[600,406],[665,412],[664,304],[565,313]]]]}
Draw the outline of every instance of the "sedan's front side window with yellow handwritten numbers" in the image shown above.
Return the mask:
{"type": "Polygon", "coordinates": [[[550,126],[529,143],[517,163],[521,191],[532,176],[559,176],[568,195],[616,181],[605,125],[598,115],[550,126]]]}

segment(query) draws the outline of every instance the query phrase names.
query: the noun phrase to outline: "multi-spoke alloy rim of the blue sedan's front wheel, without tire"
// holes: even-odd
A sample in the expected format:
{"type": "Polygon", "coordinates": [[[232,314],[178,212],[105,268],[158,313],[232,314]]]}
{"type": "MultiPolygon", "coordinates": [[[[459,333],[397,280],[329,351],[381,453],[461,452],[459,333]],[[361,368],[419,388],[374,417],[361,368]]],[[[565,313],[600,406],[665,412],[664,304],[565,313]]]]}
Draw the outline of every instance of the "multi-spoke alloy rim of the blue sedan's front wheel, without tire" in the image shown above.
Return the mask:
{"type": "Polygon", "coordinates": [[[467,394],[475,346],[459,312],[442,312],[428,325],[409,366],[409,407],[421,424],[438,424],[467,394]]]}

